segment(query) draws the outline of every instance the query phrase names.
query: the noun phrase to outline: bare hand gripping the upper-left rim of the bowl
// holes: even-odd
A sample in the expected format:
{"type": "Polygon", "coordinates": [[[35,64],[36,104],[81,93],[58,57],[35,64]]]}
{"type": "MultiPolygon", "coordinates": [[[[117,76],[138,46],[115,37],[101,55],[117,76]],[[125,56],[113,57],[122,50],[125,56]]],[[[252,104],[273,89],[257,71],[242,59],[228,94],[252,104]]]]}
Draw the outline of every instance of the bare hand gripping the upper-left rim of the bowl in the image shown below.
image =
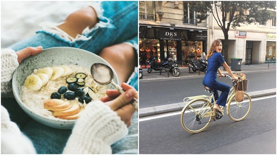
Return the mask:
{"type": "Polygon", "coordinates": [[[36,55],[42,51],[42,47],[26,47],[25,49],[15,52],[17,54],[17,61],[20,64],[25,58],[28,58],[31,55],[36,55]]]}

